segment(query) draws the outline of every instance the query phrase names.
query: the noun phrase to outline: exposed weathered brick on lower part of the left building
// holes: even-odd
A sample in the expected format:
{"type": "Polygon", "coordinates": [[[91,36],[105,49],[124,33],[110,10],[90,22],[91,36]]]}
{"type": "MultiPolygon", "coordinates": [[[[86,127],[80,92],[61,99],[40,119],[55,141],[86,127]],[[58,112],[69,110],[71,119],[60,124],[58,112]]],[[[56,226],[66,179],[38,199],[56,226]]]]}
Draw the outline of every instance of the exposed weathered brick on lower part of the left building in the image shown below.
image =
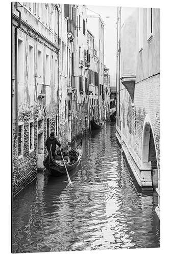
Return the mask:
{"type": "Polygon", "coordinates": [[[34,108],[21,109],[18,113],[18,121],[23,122],[23,157],[18,159],[18,137],[15,137],[15,123],[13,124],[13,158],[12,158],[12,192],[17,195],[24,187],[37,177],[37,118],[43,116],[44,135],[44,158],[48,152],[46,150],[46,118],[50,119],[50,132],[55,131],[56,109],[42,115],[39,106],[34,108]],[[29,121],[34,119],[34,151],[29,151],[29,121]]]}

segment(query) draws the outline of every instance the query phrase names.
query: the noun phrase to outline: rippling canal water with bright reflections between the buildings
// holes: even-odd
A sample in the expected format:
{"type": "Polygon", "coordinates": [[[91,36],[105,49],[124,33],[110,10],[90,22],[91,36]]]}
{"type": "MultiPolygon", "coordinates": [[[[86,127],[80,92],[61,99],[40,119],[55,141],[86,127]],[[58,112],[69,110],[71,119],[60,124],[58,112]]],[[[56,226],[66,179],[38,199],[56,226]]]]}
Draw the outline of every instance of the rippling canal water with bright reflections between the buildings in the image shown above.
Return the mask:
{"type": "Polygon", "coordinates": [[[159,247],[156,193],[142,192],[116,140],[115,124],[85,135],[67,178],[38,173],[13,200],[12,251],[159,247]]]}

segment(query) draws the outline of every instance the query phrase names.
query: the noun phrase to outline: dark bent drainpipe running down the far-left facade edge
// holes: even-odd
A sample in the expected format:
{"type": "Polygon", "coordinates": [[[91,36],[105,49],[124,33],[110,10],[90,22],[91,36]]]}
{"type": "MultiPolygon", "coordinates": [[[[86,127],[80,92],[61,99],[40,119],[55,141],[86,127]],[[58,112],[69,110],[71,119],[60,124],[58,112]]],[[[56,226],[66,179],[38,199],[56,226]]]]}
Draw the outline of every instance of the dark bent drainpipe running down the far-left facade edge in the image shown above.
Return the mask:
{"type": "Polygon", "coordinates": [[[15,2],[15,9],[19,13],[18,25],[15,27],[15,137],[18,135],[18,49],[17,49],[17,29],[21,24],[21,12],[18,10],[18,2],[15,2]]]}

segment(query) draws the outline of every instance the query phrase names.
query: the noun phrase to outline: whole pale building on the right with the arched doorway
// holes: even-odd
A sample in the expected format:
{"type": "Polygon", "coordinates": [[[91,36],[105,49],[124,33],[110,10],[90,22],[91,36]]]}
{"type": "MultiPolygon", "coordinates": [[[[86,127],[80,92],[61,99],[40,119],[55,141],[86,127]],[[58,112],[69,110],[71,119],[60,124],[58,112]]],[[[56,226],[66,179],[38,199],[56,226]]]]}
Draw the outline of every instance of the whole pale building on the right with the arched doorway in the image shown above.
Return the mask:
{"type": "Polygon", "coordinates": [[[159,195],[159,9],[135,9],[122,25],[124,10],[117,17],[116,136],[138,184],[159,195]]]}

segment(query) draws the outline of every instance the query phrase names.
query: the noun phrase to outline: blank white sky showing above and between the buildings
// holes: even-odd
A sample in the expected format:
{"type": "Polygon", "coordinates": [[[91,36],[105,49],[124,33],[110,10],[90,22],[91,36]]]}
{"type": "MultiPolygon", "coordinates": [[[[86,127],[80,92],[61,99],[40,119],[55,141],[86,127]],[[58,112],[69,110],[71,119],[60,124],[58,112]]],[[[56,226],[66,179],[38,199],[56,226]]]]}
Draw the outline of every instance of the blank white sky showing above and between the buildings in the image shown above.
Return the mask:
{"type": "MultiPolygon", "coordinates": [[[[91,11],[101,15],[104,21],[104,61],[110,69],[110,86],[114,86],[116,74],[116,20],[117,7],[113,6],[86,6],[91,11]],[[109,17],[108,17],[109,16],[109,17]]],[[[134,8],[124,7],[122,9],[122,24],[124,20],[134,11],[134,8]]],[[[93,15],[95,15],[93,13],[93,15]]],[[[87,14],[92,14],[87,10],[87,14]]],[[[90,28],[89,28],[90,29],[90,28]]],[[[92,32],[92,31],[91,31],[92,32]]]]}

